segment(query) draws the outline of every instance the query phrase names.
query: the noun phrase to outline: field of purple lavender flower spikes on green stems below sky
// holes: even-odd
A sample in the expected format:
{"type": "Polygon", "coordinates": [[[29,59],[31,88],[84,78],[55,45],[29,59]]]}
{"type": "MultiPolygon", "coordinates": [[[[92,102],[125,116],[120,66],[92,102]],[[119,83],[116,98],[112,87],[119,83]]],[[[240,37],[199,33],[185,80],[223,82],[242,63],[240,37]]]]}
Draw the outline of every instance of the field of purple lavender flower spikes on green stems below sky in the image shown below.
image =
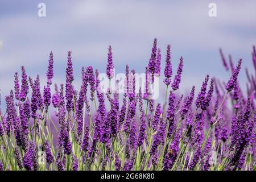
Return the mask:
{"type": "Polygon", "coordinates": [[[242,59],[227,59],[220,49],[230,78],[205,75],[201,88],[192,86],[188,93],[179,90],[186,60],[172,59],[170,45],[161,50],[154,39],[144,84],[138,86],[135,69],[126,65],[119,71],[125,73],[122,85],[115,79],[109,46],[106,91],[90,65],[81,68],[81,87],[75,88],[71,51],[63,84],[53,83],[53,52],[46,75],[30,77],[22,65],[10,93],[1,96],[6,107],[0,110],[0,170],[255,170],[255,47],[255,72],[243,67],[242,59]],[[247,76],[246,88],[241,72],[247,76]],[[46,85],[40,84],[42,77],[46,85]],[[157,80],[164,84],[163,100],[152,97],[157,80]]]}

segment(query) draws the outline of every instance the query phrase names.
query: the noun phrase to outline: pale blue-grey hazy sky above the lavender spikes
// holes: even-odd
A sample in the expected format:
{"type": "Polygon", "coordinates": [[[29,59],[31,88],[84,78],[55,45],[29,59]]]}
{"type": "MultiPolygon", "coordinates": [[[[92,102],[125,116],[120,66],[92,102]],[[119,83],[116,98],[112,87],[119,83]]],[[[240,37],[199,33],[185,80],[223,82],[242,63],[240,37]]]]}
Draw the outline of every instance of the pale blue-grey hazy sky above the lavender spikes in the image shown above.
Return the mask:
{"type": "MultiPolygon", "coordinates": [[[[129,64],[144,72],[152,42],[158,38],[162,66],[171,44],[176,72],[184,57],[182,91],[199,90],[205,75],[227,81],[218,48],[228,58],[243,59],[253,71],[251,51],[256,43],[256,1],[3,1],[0,0],[0,89],[2,101],[13,88],[14,72],[26,67],[45,82],[49,52],[53,51],[55,77],[64,82],[67,51],[72,51],[75,85],[81,67],[92,65],[105,72],[108,46],[112,45],[116,73],[129,64]],[[46,17],[38,16],[38,4],[46,3],[46,17]],[[217,17],[209,17],[208,5],[217,5],[217,17]]],[[[77,87],[78,88],[78,87],[77,87]]]]}

